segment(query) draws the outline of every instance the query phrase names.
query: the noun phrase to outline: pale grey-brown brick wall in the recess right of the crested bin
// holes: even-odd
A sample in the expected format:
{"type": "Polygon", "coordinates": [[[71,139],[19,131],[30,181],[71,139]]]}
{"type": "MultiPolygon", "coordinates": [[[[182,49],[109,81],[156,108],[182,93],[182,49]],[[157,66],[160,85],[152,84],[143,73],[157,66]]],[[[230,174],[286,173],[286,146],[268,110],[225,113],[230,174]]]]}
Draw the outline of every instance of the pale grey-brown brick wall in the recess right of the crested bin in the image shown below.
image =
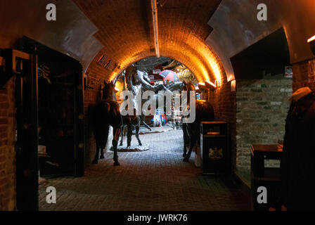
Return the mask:
{"type": "MultiPolygon", "coordinates": [[[[251,144],[283,141],[290,107],[292,79],[251,79],[236,82],[236,167],[250,169],[251,144]]],[[[278,166],[275,161],[266,166],[278,166]]]]}

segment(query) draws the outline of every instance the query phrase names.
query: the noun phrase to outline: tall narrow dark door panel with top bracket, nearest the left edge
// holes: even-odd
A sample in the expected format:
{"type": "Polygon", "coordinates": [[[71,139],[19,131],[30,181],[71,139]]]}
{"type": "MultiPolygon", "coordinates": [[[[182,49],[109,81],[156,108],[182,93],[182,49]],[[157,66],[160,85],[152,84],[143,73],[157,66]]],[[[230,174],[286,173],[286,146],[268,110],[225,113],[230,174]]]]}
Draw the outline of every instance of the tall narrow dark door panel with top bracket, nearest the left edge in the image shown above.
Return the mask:
{"type": "Polygon", "coordinates": [[[18,210],[38,210],[37,56],[15,49],[1,50],[5,65],[1,84],[15,76],[16,203],[18,210]]]}

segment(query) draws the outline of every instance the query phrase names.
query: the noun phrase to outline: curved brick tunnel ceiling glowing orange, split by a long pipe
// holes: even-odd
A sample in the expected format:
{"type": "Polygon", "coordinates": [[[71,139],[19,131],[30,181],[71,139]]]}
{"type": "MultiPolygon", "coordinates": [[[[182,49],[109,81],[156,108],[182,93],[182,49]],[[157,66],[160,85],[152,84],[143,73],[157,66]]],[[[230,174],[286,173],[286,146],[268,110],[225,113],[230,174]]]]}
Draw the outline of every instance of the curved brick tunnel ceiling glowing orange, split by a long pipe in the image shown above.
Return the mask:
{"type": "MultiPolygon", "coordinates": [[[[103,44],[86,73],[98,72],[108,79],[127,65],[155,56],[152,12],[149,0],[74,0],[98,32],[103,44]],[[97,63],[102,56],[111,60],[108,68],[97,63]]],[[[214,51],[206,44],[212,28],[207,25],[221,0],[160,0],[158,29],[160,55],[186,65],[203,82],[221,79],[224,70],[214,51]]]]}

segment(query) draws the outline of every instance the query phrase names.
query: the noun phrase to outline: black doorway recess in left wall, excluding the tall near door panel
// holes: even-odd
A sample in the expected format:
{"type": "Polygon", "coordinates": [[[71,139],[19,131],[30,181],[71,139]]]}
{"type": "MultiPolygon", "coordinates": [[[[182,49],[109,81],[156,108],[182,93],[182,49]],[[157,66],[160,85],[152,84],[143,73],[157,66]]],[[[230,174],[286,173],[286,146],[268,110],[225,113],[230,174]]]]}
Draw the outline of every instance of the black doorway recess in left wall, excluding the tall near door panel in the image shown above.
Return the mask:
{"type": "Polygon", "coordinates": [[[83,176],[82,65],[27,37],[21,46],[37,56],[40,176],[83,176]]]}

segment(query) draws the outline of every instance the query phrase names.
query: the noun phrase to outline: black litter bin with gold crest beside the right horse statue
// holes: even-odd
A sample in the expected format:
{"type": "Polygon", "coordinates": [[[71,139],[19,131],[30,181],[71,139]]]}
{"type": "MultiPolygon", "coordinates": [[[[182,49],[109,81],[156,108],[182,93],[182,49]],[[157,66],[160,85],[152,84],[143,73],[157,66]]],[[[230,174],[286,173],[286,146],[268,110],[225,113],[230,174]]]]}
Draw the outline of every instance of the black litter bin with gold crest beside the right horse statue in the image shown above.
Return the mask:
{"type": "Polygon", "coordinates": [[[226,122],[201,122],[200,156],[205,174],[229,174],[231,168],[226,122]]]}

